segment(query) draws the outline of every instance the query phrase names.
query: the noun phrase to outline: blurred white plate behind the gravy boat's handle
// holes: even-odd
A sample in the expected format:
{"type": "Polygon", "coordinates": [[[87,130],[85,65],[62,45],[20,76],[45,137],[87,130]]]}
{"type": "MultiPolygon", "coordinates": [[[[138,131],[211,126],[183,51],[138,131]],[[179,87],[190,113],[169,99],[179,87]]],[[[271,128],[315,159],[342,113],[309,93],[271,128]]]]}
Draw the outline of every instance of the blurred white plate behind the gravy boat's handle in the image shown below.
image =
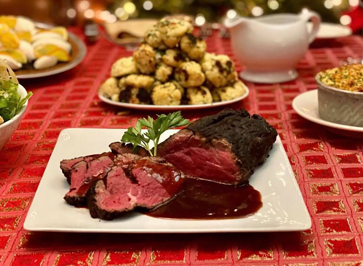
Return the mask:
{"type": "MultiPolygon", "coordinates": [[[[310,31],[313,29],[313,23],[309,22],[307,28],[310,31]]],[[[352,29],[348,26],[343,26],[335,23],[322,22],[317,33],[318,39],[340,38],[352,35],[352,29]]]]}

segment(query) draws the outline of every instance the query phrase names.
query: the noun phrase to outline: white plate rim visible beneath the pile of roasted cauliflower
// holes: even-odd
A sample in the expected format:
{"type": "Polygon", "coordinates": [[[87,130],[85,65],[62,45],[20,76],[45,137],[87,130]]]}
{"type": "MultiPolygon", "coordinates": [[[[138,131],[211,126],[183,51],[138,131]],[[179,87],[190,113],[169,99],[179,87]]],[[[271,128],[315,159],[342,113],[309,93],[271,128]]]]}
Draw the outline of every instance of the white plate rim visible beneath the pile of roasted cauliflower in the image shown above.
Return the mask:
{"type": "Polygon", "coordinates": [[[101,94],[98,94],[98,97],[101,99],[102,102],[109,103],[110,105],[130,108],[130,109],[138,109],[138,110],[154,110],[154,111],[163,111],[163,110],[192,110],[192,109],[204,109],[204,108],[211,108],[216,106],[223,106],[223,105],[229,105],[231,103],[239,102],[242,99],[246,98],[249,94],[248,87],[246,87],[246,92],[241,97],[229,100],[229,101],[223,101],[223,102],[213,102],[213,103],[205,103],[202,105],[138,105],[135,103],[122,103],[122,102],[116,102],[112,101],[110,99],[107,99],[106,97],[102,96],[101,94]]]}

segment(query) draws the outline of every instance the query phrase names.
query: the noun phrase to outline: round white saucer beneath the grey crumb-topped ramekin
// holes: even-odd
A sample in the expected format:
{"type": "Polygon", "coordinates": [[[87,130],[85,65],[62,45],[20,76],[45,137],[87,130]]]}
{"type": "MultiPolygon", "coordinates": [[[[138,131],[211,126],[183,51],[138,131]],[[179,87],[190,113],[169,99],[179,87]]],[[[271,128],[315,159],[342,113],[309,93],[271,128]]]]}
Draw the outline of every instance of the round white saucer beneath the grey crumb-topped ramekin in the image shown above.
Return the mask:
{"type": "MultiPolygon", "coordinates": [[[[311,122],[321,124],[323,126],[327,126],[330,128],[335,128],[338,130],[344,131],[351,131],[351,132],[363,132],[363,127],[354,127],[354,126],[347,126],[342,124],[337,124],[333,122],[329,122],[323,120],[319,116],[318,111],[318,90],[311,90],[305,93],[302,93],[294,98],[293,100],[293,109],[301,115],[303,118],[310,120],[311,122]]],[[[338,134],[344,134],[343,132],[336,131],[334,132],[338,134]]],[[[355,135],[356,136],[356,135],[355,135]]],[[[362,136],[362,135],[359,135],[362,136]]]]}

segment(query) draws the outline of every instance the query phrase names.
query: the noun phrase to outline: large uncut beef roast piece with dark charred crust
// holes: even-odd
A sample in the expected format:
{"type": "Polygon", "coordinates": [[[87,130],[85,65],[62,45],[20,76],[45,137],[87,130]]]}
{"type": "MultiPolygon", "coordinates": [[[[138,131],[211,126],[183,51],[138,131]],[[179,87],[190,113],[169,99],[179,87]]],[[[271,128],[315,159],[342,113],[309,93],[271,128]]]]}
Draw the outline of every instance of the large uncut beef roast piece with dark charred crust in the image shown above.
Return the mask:
{"type": "Polygon", "coordinates": [[[205,116],[158,146],[158,155],[186,175],[242,184],[268,157],[277,131],[248,111],[226,109],[205,116]]]}

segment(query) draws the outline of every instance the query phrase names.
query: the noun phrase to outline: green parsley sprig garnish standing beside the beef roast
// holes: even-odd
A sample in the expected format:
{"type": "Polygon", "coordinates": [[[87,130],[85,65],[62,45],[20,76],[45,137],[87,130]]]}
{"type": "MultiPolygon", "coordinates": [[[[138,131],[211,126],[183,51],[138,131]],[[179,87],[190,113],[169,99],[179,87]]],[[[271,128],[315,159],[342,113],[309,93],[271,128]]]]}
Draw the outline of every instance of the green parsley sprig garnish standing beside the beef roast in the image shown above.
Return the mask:
{"type": "Polygon", "coordinates": [[[150,156],[156,156],[158,153],[159,139],[163,132],[170,128],[186,126],[189,123],[189,119],[184,119],[180,111],[168,115],[159,115],[156,120],[148,116],[147,119],[139,119],[135,127],[129,127],[123,134],[121,142],[132,143],[134,150],[138,146],[142,146],[149,152],[150,156]],[[147,129],[147,132],[141,132],[143,127],[147,129]],[[150,141],[154,143],[154,153],[152,153],[149,147],[150,141]]]}

